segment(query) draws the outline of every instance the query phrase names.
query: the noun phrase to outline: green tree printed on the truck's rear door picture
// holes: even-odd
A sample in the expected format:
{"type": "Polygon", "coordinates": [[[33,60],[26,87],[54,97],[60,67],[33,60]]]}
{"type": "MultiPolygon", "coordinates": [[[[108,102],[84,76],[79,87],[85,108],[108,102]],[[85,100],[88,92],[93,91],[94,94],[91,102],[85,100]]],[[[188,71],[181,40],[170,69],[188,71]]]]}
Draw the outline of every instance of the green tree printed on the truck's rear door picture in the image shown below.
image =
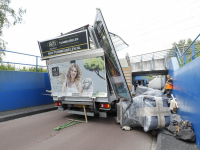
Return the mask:
{"type": "Polygon", "coordinates": [[[104,71],[104,61],[102,57],[84,59],[83,65],[85,69],[94,71],[100,78],[105,80],[105,78],[99,74],[99,71],[104,71]]]}

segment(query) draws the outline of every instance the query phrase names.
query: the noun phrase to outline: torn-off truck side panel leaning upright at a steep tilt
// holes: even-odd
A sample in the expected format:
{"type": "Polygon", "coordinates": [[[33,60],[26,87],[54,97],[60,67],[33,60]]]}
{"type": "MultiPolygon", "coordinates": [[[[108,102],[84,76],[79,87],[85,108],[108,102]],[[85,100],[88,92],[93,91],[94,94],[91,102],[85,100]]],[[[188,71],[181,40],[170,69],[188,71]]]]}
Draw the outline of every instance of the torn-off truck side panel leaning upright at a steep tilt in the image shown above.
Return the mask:
{"type": "Polygon", "coordinates": [[[100,47],[103,48],[105,52],[107,75],[114,87],[113,90],[115,94],[119,98],[124,97],[127,100],[131,100],[131,93],[128,89],[115,47],[110,38],[109,31],[100,9],[97,9],[94,21],[94,31],[100,47]]]}

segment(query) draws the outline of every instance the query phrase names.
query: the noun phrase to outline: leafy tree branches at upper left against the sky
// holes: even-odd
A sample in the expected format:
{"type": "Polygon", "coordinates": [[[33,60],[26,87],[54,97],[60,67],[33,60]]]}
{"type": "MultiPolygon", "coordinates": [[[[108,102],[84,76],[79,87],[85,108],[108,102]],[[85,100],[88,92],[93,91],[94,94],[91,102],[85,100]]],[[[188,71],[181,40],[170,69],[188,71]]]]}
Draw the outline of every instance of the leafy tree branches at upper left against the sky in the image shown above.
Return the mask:
{"type": "MultiPolygon", "coordinates": [[[[3,28],[9,28],[16,24],[22,23],[22,15],[26,13],[26,10],[19,8],[18,12],[10,8],[11,0],[0,0],[0,49],[6,49],[6,44],[2,39],[3,28]]],[[[4,52],[0,51],[0,60],[2,60],[4,52]]]]}

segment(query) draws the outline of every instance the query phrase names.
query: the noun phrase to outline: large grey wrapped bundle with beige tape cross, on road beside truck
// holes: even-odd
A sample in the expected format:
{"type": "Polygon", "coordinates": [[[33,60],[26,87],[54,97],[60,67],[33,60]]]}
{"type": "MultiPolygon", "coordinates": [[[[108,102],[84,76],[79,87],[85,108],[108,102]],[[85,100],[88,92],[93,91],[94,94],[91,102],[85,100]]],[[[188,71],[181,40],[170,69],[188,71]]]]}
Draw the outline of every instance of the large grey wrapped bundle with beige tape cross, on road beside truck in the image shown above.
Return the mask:
{"type": "Polygon", "coordinates": [[[140,95],[132,103],[122,101],[117,104],[117,122],[120,120],[121,127],[143,127],[145,132],[167,127],[170,125],[168,98],[140,95]]]}

